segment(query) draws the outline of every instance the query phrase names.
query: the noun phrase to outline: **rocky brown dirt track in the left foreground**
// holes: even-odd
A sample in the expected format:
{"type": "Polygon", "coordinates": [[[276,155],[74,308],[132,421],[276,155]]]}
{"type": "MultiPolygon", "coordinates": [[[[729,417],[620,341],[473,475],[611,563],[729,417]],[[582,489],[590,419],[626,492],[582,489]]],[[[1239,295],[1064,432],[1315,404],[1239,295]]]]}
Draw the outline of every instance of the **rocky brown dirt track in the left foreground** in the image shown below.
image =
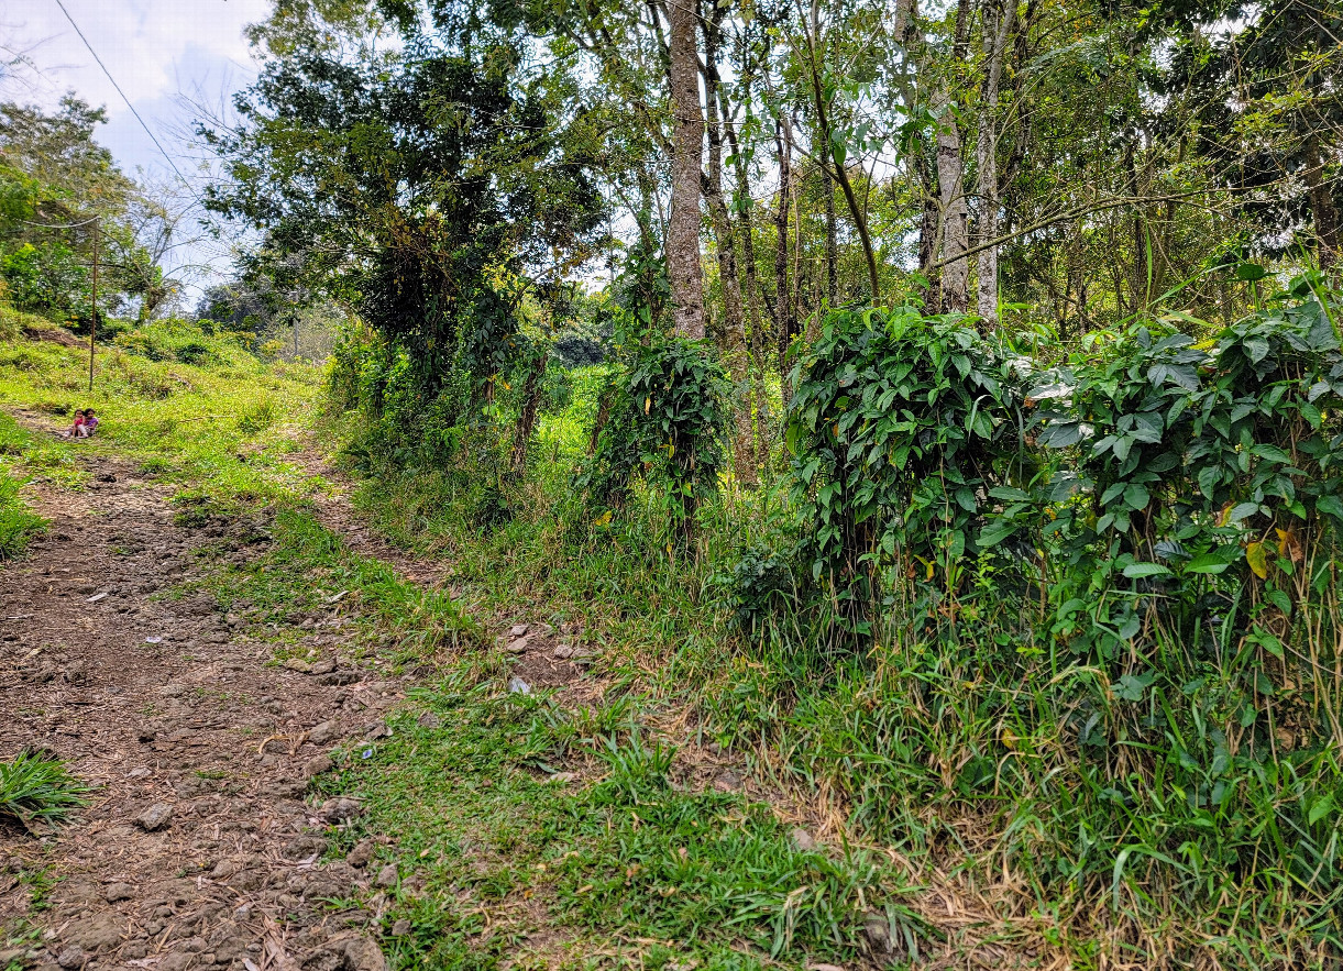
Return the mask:
{"type": "Polygon", "coordinates": [[[50,749],[95,786],[59,830],[0,823],[0,968],[381,971],[368,847],[318,862],[341,806],[304,796],[406,682],[349,666],[338,604],[302,622],[314,673],[267,666],[247,604],[173,595],[263,555],[267,524],[179,526],[133,463],[89,469],[35,486],[50,530],[0,567],[0,760],[50,749]]]}

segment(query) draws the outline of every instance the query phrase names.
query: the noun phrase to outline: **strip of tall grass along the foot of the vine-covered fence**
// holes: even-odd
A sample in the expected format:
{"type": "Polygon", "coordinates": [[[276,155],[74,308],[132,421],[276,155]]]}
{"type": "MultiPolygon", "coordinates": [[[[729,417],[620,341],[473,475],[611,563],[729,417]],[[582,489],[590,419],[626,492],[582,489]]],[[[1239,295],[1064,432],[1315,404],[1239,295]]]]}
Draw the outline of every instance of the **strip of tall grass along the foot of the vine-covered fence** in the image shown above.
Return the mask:
{"type": "Polygon", "coordinates": [[[592,518],[569,477],[595,410],[577,381],[543,418],[504,516],[477,516],[481,477],[465,467],[367,467],[360,504],[449,559],[482,615],[582,625],[600,677],[638,696],[663,745],[729,751],[813,827],[898,857],[904,881],[933,889],[908,901],[929,924],[948,900],[967,917],[925,948],[1078,968],[1327,967],[1343,954],[1343,770],[1309,741],[1339,716],[1334,674],[1312,692],[1327,710],[1256,682],[1283,713],[1265,757],[1218,728],[1244,704],[1246,658],[1171,642],[1158,676],[1111,684],[1029,606],[1009,616],[990,571],[956,623],[892,603],[860,654],[779,600],[743,634],[717,591],[752,556],[768,568],[761,540],[787,541],[779,496],[706,505],[689,555],[655,497],[592,518]]]}

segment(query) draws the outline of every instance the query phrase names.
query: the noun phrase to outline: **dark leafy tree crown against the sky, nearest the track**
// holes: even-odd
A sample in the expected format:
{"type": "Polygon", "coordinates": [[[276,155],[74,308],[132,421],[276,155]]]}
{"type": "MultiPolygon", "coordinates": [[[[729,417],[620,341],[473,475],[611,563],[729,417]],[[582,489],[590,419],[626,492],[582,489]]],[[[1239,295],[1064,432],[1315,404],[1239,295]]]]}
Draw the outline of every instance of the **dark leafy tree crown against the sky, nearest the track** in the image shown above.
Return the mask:
{"type": "Polygon", "coordinates": [[[254,271],[357,308],[432,389],[454,361],[502,367],[524,290],[586,261],[604,220],[563,78],[506,32],[387,8],[281,4],[254,31],[240,124],[204,132],[231,176],[210,205],[263,234],[254,271]]]}

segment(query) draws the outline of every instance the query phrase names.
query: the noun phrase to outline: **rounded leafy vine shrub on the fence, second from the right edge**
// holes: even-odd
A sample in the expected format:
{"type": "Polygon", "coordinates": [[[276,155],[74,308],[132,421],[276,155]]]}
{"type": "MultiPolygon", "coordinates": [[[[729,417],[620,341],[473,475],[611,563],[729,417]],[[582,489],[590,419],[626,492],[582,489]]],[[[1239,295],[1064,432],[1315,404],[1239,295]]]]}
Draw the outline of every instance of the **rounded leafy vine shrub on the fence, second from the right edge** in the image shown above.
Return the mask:
{"type": "Polygon", "coordinates": [[[1035,474],[1026,372],[955,316],[831,312],[794,369],[786,432],[811,579],[862,603],[872,571],[954,582],[1005,539],[995,509],[1029,498],[1035,474]]]}

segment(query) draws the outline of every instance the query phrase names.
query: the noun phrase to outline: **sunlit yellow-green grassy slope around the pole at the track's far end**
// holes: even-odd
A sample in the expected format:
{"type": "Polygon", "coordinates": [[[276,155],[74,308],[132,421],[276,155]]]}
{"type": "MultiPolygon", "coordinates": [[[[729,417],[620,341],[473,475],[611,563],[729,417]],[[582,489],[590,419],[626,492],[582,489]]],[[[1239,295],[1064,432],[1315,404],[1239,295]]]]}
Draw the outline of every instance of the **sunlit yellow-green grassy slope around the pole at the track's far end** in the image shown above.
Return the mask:
{"type": "Polygon", "coordinates": [[[154,321],[99,349],[93,394],[87,351],[51,342],[0,341],[0,407],[43,412],[51,427],[94,407],[95,438],[67,442],[26,435],[0,446],[34,475],[78,486],[78,455],[117,453],[141,474],[235,504],[293,502],[314,483],[290,455],[321,399],[321,371],[267,364],[236,340],[181,321],[154,321]],[[192,363],[187,363],[192,361],[192,363]]]}

